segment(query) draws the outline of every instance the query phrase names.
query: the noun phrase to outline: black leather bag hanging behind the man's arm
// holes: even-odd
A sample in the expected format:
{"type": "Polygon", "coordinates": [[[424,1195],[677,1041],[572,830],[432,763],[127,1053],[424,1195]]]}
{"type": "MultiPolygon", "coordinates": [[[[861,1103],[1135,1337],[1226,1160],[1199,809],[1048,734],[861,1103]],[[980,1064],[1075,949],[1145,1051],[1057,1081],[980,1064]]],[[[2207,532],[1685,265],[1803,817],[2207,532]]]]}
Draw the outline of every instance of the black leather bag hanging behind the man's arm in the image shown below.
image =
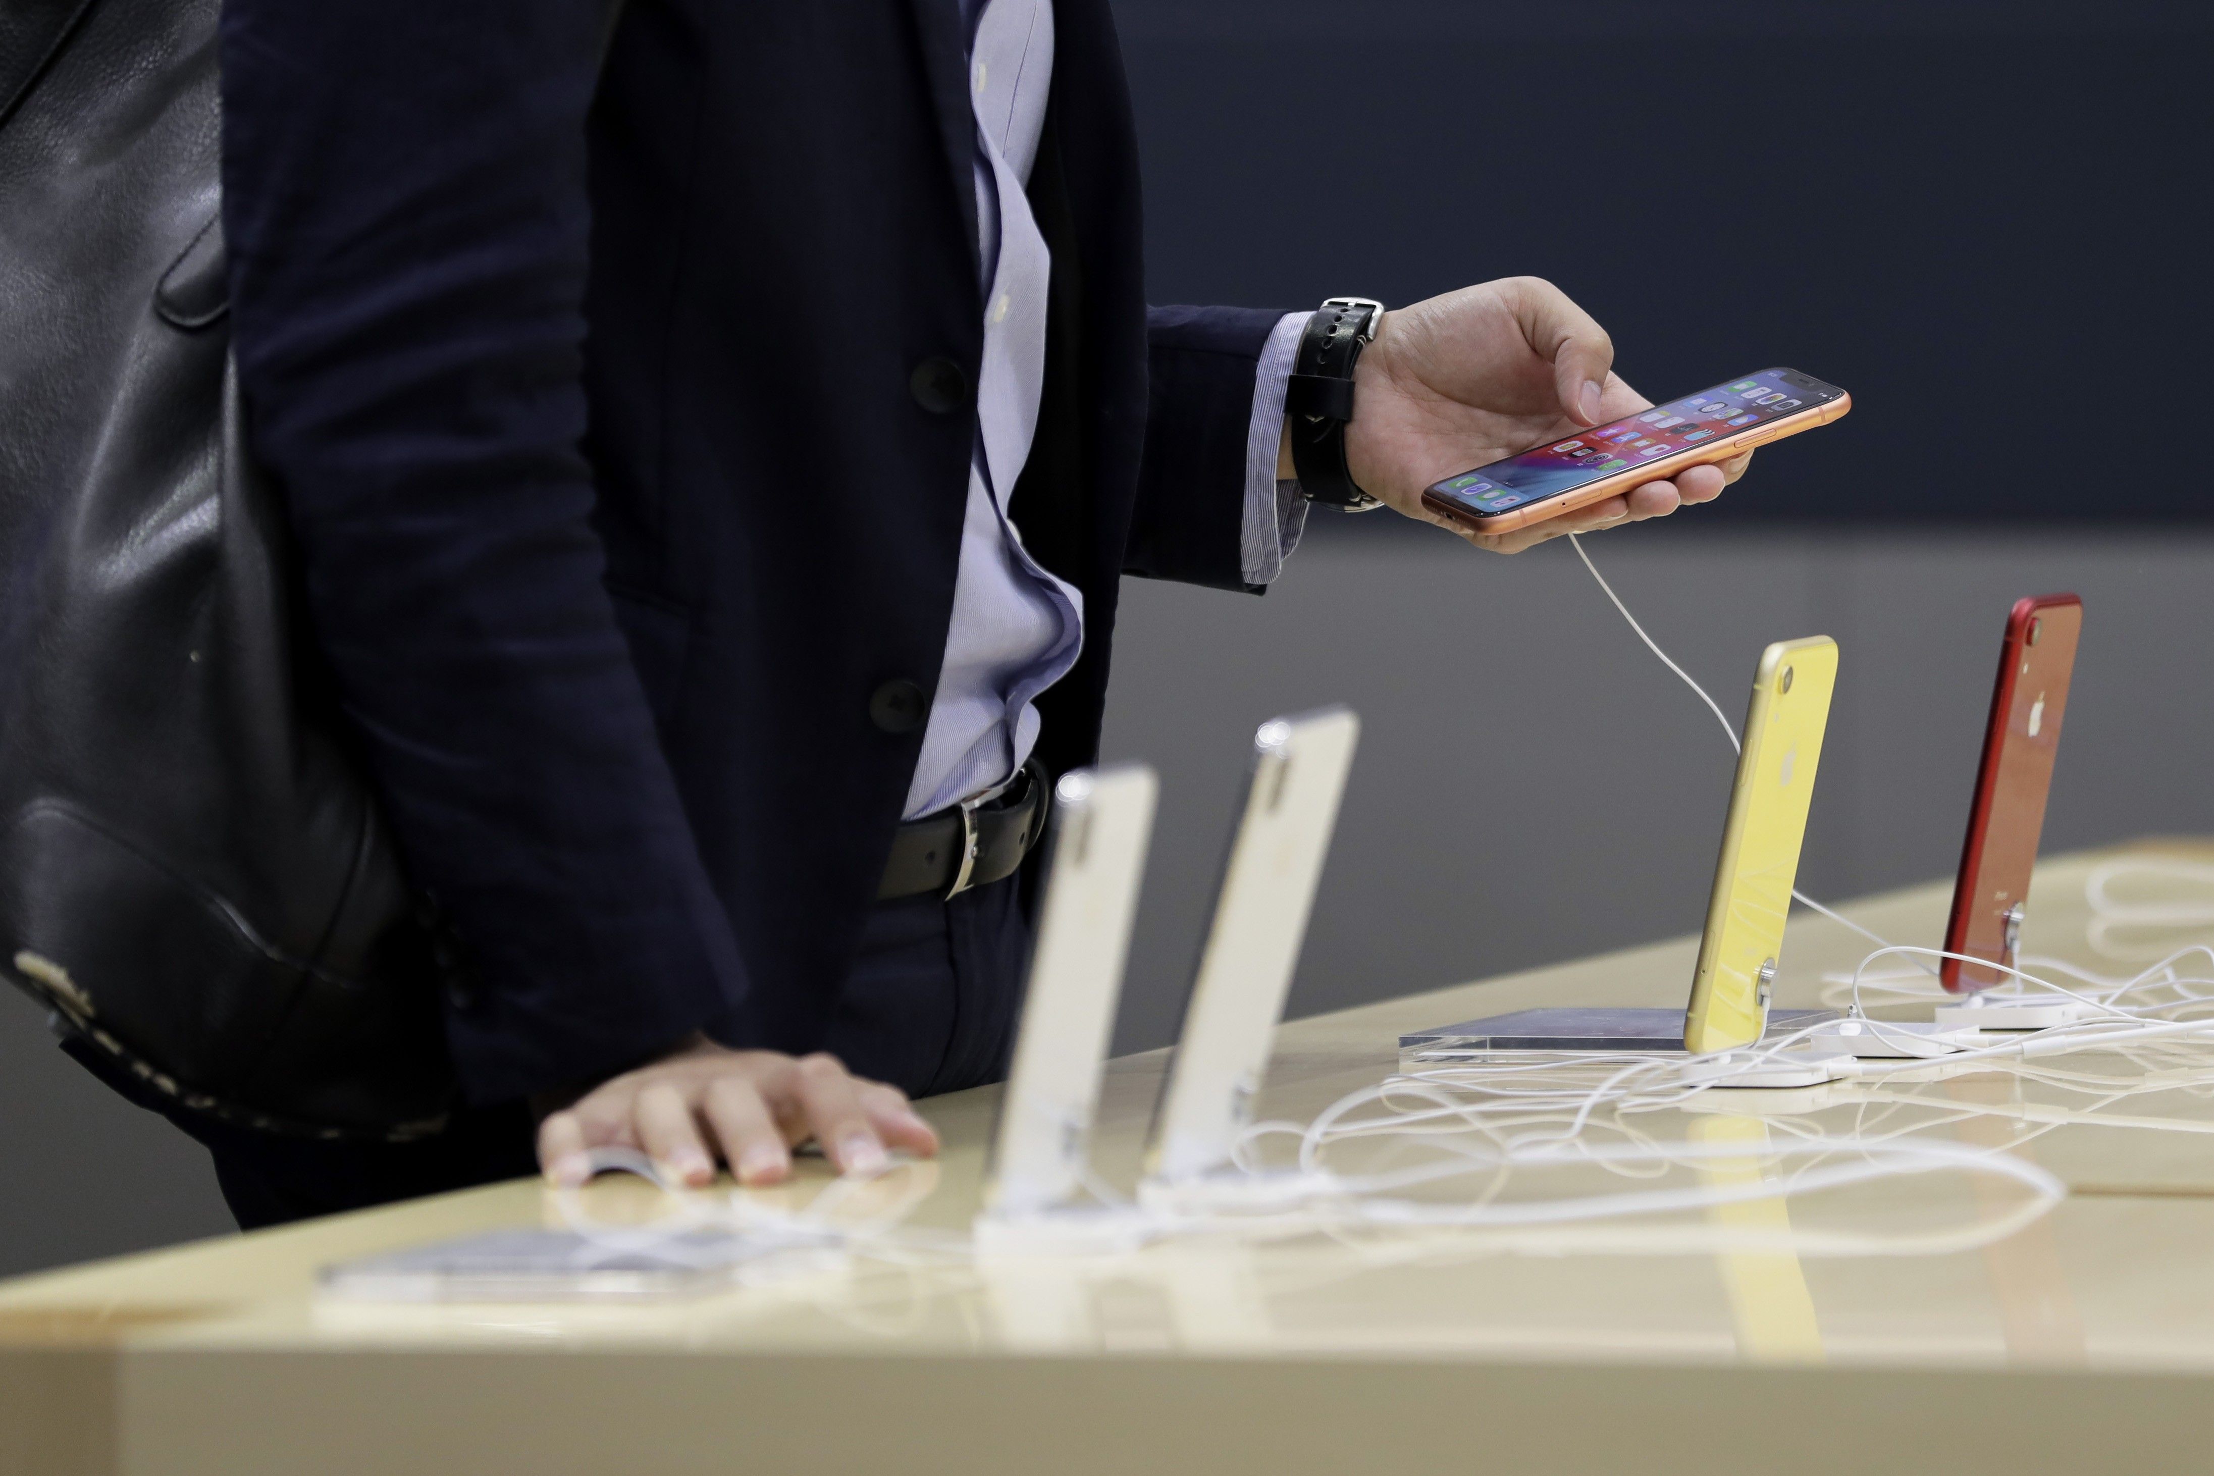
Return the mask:
{"type": "Polygon", "coordinates": [[[0,0],[0,967],[142,1100],[412,1137],[445,945],[246,456],[217,9],[0,0]]]}

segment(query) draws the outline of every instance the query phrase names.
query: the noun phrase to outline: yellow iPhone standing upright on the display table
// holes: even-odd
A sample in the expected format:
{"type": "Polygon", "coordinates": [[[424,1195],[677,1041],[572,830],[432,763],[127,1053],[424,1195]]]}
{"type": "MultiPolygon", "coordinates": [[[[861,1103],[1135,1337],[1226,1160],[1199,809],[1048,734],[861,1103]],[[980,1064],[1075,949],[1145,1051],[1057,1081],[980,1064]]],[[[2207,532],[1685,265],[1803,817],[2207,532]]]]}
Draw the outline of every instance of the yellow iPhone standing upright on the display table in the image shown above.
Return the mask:
{"type": "Polygon", "coordinates": [[[1769,989],[1835,686],[1838,642],[1827,635],[1776,642],[1760,653],[1683,1022],[1687,1051],[1751,1044],[1769,1025],[1769,989]]]}

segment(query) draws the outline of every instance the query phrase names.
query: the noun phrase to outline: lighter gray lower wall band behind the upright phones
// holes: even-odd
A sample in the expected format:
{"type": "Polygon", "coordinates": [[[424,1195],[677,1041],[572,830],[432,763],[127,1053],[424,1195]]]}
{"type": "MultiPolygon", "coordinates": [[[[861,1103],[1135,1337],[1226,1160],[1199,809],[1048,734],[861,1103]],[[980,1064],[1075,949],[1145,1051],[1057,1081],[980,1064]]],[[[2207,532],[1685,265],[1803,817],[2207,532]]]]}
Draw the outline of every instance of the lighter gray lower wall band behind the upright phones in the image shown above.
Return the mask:
{"type": "MultiPolygon", "coordinates": [[[[1787,482],[1756,462],[1729,496],[1787,482]]],[[[1162,772],[1116,1044],[1178,1020],[1253,726],[1364,717],[1293,1011],[1696,932],[1734,755],[1565,542],[1468,551],[1388,513],[1322,522],[1264,600],[1127,582],[1107,757],[1162,772]],[[1335,536],[1333,536],[1335,533],[1335,536]]],[[[2214,832],[2214,536],[1729,531],[1705,509],[1585,540],[1731,721],[1771,640],[1833,635],[1802,890],[1951,874],[2019,595],[2086,631],[2046,848],[2214,832]]],[[[1935,943],[1935,938],[1924,938],[1935,943]]]]}

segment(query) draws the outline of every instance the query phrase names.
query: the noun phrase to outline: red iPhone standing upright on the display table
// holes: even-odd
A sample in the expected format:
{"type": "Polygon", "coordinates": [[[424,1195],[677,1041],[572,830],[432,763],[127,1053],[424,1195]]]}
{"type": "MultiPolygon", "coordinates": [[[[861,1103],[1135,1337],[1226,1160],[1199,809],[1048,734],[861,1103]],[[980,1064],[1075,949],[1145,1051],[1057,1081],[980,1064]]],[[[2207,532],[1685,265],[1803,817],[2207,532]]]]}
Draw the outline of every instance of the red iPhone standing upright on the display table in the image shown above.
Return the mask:
{"type": "MultiPolygon", "coordinates": [[[[2037,832],[2046,825],[2046,790],[2052,786],[2052,755],[2061,744],[2081,631],[2083,602],[2075,595],[2017,600],[2006,617],[1999,686],[1990,695],[1984,763],[1975,772],[1975,808],[1959,850],[1959,881],[1953,883],[1953,921],[1944,929],[1948,954],[2019,967],[2015,943],[2030,898],[2037,832]]],[[[2008,978],[1957,958],[1946,958],[1937,974],[1955,994],[2008,978]]]]}

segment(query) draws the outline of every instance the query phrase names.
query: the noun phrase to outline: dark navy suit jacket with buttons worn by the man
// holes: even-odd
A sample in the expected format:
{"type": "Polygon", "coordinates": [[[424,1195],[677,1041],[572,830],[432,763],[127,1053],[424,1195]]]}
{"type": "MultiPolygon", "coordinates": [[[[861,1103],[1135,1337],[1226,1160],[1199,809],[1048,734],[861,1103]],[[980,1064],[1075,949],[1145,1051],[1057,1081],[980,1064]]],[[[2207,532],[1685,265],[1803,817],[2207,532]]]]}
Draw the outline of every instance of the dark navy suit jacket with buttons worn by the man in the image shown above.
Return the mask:
{"type": "MultiPolygon", "coordinates": [[[[228,0],[255,445],[392,823],[476,956],[469,1093],[708,1025],[810,1049],[945,651],[983,341],[956,0],[228,0]],[[943,376],[941,376],[943,381],[943,376]],[[928,403],[925,403],[928,401],[928,403]],[[897,724],[894,724],[897,726],[897,724]]],[[[1094,757],[1116,582],[1240,580],[1275,312],[1147,310],[1107,0],[1056,0],[1054,252],[1014,518],[1085,593],[1043,757],[1094,757]]]]}

